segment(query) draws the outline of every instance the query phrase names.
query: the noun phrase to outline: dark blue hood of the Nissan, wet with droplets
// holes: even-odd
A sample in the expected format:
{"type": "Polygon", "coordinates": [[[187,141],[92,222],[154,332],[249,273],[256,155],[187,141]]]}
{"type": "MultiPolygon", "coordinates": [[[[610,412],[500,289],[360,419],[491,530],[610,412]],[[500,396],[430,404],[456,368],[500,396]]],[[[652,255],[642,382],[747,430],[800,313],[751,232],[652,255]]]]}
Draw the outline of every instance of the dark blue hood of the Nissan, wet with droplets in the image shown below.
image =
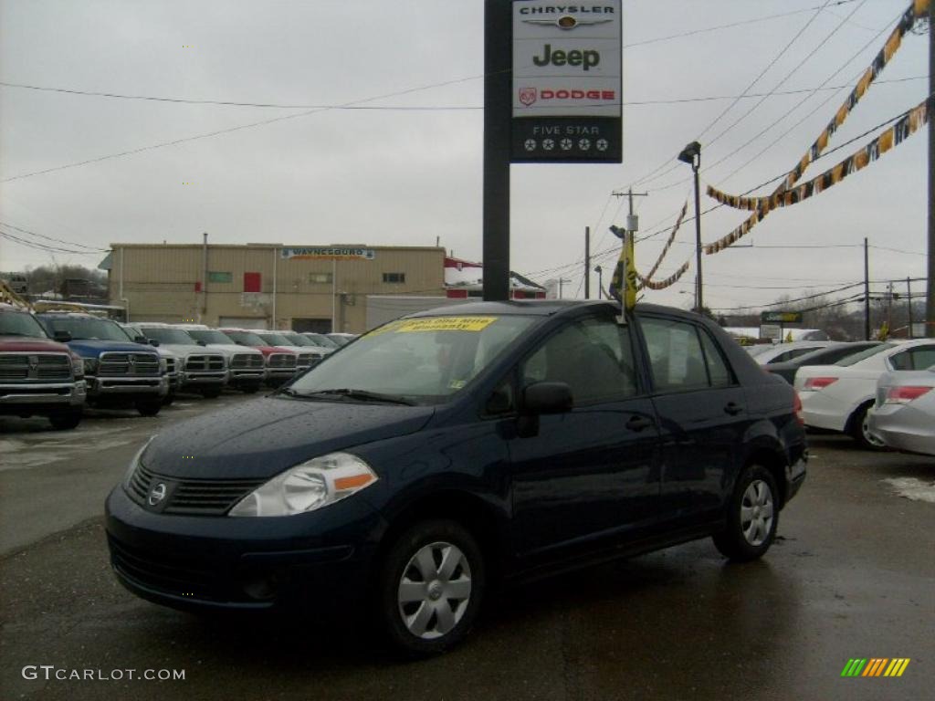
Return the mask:
{"type": "Polygon", "coordinates": [[[432,407],[263,397],[177,423],[144,453],[180,479],[266,479],[310,458],[420,430],[432,407]]]}

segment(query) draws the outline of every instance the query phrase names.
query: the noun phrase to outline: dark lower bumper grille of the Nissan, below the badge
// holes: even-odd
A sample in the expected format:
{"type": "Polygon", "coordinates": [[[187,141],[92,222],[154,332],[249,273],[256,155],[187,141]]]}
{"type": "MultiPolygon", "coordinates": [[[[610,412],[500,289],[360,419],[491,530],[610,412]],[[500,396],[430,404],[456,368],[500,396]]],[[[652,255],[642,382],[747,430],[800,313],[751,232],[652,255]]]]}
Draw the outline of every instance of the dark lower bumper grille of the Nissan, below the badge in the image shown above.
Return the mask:
{"type": "Polygon", "coordinates": [[[250,601],[233,572],[196,555],[136,548],[108,535],[110,563],[123,577],[165,594],[212,601],[250,601]]]}

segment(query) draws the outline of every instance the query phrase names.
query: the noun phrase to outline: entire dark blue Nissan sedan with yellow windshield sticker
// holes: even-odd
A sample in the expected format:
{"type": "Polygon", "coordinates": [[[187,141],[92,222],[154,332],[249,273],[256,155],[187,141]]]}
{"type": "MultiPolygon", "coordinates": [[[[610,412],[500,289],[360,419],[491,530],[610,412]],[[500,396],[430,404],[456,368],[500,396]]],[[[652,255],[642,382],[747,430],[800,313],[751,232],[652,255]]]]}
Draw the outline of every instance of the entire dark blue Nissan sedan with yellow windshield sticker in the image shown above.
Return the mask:
{"type": "Polygon", "coordinates": [[[117,577],[177,608],[364,611],[428,654],[496,582],[704,536],[761,556],[805,479],[796,393],[697,315],[618,313],[414,314],[167,429],[108,497],[117,577]]]}

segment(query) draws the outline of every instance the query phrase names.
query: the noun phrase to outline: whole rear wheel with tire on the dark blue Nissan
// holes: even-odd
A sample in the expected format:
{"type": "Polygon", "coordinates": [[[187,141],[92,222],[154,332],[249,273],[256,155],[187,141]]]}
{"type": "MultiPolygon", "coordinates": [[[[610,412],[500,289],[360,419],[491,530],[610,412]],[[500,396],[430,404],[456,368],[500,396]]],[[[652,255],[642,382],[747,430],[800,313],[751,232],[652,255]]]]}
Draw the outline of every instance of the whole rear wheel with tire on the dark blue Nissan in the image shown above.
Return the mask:
{"type": "Polygon", "coordinates": [[[770,550],[779,525],[779,492],[770,470],[748,465],[727,505],[725,529],[713,536],[714,547],[734,562],[748,562],[770,550]]]}

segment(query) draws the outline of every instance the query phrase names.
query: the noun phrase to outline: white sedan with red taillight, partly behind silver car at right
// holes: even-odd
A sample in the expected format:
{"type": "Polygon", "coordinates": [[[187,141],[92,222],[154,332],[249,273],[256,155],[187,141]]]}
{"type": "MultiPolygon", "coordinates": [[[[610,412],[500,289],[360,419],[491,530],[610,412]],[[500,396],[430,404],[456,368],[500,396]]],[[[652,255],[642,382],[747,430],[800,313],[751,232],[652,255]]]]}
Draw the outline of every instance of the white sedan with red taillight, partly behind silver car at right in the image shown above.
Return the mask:
{"type": "Polygon", "coordinates": [[[870,431],[869,413],[877,380],[887,372],[902,373],[935,365],[935,339],[887,342],[848,356],[837,365],[799,368],[795,387],[805,425],[853,436],[864,448],[883,448],[870,431]]]}

